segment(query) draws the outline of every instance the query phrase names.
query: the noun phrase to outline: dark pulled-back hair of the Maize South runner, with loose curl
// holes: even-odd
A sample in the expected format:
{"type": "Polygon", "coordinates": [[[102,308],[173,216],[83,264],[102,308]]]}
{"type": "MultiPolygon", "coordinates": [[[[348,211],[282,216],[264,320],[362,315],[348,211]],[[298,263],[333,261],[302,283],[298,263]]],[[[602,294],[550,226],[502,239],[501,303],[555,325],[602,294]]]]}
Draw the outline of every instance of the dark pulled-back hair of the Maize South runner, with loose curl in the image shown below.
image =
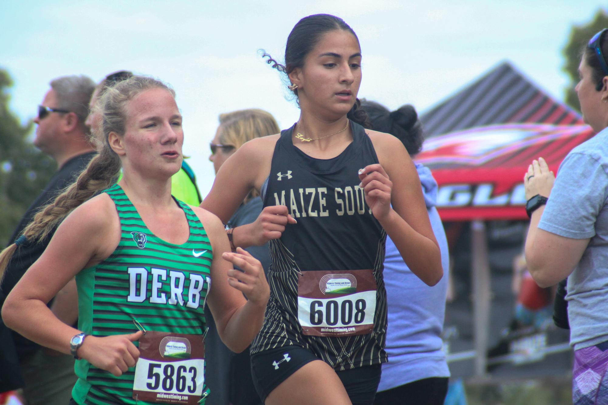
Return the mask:
{"type": "MultiPolygon", "coordinates": [[[[266,63],[271,64],[274,69],[289,75],[295,68],[304,66],[306,56],[319,43],[321,37],[334,30],[350,32],[359,44],[357,34],[342,18],[330,14],[315,14],[300,19],[289,33],[285,46],[285,64],[279,63],[266,52],[263,52],[262,58],[267,58],[266,63]]],[[[298,90],[295,89],[292,92],[297,98],[298,90]]],[[[361,102],[356,99],[347,117],[365,128],[370,128],[367,114],[359,108],[360,106],[361,102]]]]}

